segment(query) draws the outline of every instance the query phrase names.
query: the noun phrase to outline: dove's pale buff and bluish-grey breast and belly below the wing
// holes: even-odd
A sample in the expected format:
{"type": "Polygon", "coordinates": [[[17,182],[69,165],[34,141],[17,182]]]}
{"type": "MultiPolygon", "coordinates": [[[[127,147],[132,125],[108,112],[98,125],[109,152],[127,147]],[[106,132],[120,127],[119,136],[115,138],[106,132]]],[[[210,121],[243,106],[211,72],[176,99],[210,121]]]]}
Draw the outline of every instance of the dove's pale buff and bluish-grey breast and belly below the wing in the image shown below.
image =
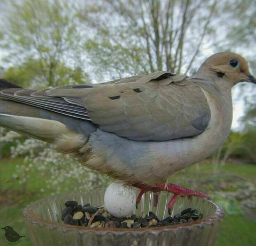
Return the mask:
{"type": "MultiPolygon", "coordinates": [[[[203,90],[203,89],[202,89],[203,90]]],[[[211,110],[206,130],[194,137],[170,141],[133,141],[98,129],[90,135],[86,165],[127,183],[165,182],[172,173],[215,152],[227,138],[232,102],[203,90],[211,110]]]]}

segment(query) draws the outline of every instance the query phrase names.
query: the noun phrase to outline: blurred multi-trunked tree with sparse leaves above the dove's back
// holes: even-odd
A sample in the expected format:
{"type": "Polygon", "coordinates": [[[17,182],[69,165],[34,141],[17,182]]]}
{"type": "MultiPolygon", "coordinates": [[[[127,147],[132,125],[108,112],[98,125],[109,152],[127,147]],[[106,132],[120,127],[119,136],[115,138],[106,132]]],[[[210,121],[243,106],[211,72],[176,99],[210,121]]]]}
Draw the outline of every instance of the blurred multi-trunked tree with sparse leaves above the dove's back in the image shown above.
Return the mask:
{"type": "MultiPolygon", "coordinates": [[[[86,42],[93,64],[110,77],[171,70],[187,73],[211,43],[218,1],[102,0],[81,14],[95,30],[86,42]]],[[[82,9],[81,13],[84,12],[82,9]]]]}

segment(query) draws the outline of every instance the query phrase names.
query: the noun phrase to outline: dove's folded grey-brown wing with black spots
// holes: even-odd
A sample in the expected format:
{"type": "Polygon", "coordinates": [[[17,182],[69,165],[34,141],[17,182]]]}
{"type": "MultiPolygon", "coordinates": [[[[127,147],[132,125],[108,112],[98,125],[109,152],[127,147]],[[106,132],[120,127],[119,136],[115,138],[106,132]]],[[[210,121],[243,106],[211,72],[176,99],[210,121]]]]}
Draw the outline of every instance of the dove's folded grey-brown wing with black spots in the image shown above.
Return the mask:
{"type": "Polygon", "coordinates": [[[77,106],[69,108],[66,114],[83,114],[85,120],[91,120],[103,131],[137,141],[195,136],[206,129],[211,117],[201,89],[185,75],[168,72],[104,84],[59,87],[32,93],[9,89],[2,93],[11,90],[17,90],[13,94],[16,97],[27,97],[24,103],[48,107],[49,110],[58,110],[59,107],[60,113],[67,110],[66,106],[77,106]],[[36,96],[38,103],[33,101],[36,96]],[[43,100],[39,99],[40,96],[43,100]]]}

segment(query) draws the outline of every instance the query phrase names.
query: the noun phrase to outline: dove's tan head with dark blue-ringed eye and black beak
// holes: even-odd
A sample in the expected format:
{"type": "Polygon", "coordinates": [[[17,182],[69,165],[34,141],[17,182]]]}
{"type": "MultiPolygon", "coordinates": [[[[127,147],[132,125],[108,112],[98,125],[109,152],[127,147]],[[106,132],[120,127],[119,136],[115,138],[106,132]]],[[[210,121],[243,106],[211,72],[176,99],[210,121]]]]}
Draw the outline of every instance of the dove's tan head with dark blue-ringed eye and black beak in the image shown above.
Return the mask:
{"type": "Polygon", "coordinates": [[[202,64],[213,76],[229,82],[231,86],[238,82],[252,82],[256,78],[249,71],[248,62],[240,55],[231,52],[220,52],[210,56],[202,64]]]}

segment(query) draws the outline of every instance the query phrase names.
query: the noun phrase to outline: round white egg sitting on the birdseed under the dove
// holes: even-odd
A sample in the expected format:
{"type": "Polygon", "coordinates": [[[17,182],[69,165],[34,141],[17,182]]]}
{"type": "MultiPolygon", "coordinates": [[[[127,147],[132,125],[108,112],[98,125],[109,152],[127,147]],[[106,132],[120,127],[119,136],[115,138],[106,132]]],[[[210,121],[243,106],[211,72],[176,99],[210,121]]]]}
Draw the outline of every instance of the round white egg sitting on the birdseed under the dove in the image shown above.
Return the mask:
{"type": "Polygon", "coordinates": [[[104,195],[105,207],[115,217],[131,213],[136,205],[136,193],[131,185],[115,181],[107,187],[104,195]]]}

